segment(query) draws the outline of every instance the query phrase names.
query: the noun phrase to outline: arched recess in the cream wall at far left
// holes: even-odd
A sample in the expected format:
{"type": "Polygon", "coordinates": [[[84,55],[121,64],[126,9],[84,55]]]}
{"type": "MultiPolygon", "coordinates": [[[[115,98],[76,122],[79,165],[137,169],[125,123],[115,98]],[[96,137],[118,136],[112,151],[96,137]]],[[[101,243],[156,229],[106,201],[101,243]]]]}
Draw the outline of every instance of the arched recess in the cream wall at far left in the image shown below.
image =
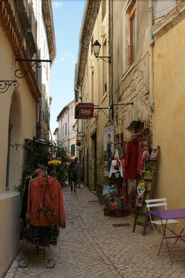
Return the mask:
{"type": "Polygon", "coordinates": [[[19,92],[14,90],[10,106],[9,126],[8,126],[8,156],[6,167],[6,190],[14,190],[14,186],[19,185],[22,175],[22,108],[19,92]],[[13,147],[14,146],[14,147],[13,147]]]}

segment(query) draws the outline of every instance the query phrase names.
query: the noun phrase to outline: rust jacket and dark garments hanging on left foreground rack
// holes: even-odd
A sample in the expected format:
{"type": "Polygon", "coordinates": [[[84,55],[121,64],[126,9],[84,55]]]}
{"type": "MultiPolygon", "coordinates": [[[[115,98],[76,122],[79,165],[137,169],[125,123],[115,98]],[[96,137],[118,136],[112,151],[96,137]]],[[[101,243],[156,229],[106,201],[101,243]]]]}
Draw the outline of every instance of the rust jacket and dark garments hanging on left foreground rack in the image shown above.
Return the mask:
{"type": "Polygon", "coordinates": [[[65,228],[61,183],[43,172],[44,176],[38,174],[40,172],[35,171],[25,179],[20,239],[27,238],[34,244],[56,245],[59,227],[65,228]],[[45,221],[39,222],[38,216],[45,221]]]}

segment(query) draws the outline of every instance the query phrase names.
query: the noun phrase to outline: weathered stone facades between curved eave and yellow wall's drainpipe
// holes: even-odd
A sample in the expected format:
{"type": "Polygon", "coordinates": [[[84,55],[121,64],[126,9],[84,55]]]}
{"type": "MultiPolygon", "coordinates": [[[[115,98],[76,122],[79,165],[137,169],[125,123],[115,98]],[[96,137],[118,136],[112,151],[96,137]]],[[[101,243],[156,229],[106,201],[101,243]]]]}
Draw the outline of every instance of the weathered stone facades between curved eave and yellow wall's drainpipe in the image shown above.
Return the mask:
{"type": "MultiPolygon", "coordinates": [[[[86,66],[81,63],[82,56],[81,60],[80,58],[78,60],[79,72],[76,74],[76,85],[81,90],[82,102],[93,102],[100,108],[95,111],[95,117],[92,120],[83,120],[83,126],[81,126],[86,132],[87,144],[85,143],[86,149],[83,149],[83,157],[84,165],[85,167],[88,165],[89,169],[85,172],[89,172],[86,178],[90,183],[90,188],[98,187],[94,177],[97,176],[99,183],[106,180],[102,179],[101,172],[104,166],[102,163],[104,126],[108,120],[115,127],[113,140],[120,141],[120,133],[123,131],[126,141],[136,132],[136,125],[147,117],[152,117],[149,96],[148,8],[145,4],[143,1],[137,1],[137,3],[136,1],[101,1],[100,5],[97,4],[97,17],[92,16],[93,31],[88,32],[88,22],[85,19],[86,23],[83,24],[85,30],[81,29],[80,38],[86,36],[86,41],[89,40],[89,48],[86,52],[86,59],[83,58],[86,60],[86,66]],[[128,17],[131,10],[134,10],[134,28],[136,28],[132,34],[135,42],[132,61],[127,58],[130,39],[128,17]],[[110,55],[111,63],[95,58],[92,53],[95,40],[102,45],[99,56],[110,55]],[[117,104],[132,102],[134,106],[117,106],[117,104]],[[112,104],[113,109],[108,110],[112,104]],[[101,111],[101,107],[107,108],[107,111],[101,111]],[[98,166],[97,161],[99,161],[98,166]]],[[[86,18],[89,16],[87,15],[86,18]]],[[[79,96],[79,92],[76,91],[76,95],[79,96]]]]}

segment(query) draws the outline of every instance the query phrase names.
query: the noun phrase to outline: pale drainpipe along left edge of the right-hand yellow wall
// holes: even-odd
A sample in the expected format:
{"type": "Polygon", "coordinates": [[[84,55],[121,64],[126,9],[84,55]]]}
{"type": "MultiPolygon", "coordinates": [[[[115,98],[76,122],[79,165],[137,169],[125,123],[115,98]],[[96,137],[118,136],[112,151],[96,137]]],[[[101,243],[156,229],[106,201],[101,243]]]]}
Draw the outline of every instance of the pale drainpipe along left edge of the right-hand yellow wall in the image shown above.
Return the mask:
{"type": "Polygon", "coordinates": [[[153,26],[153,0],[149,0],[149,81],[150,81],[150,108],[154,111],[154,60],[153,60],[153,44],[154,36],[152,33],[153,26]]]}

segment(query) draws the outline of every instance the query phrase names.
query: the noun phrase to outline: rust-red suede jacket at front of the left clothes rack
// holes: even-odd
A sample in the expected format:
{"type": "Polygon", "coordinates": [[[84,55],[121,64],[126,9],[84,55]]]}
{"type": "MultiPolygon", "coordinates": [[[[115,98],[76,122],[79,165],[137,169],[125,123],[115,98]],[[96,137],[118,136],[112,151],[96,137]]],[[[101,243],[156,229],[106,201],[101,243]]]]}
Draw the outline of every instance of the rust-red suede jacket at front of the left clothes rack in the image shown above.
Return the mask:
{"type": "MultiPolygon", "coordinates": [[[[65,228],[65,209],[63,204],[63,193],[61,183],[55,179],[48,177],[48,185],[45,187],[45,206],[54,206],[54,214],[56,217],[56,225],[65,228]],[[50,191],[50,194],[49,194],[50,191]]],[[[34,226],[35,216],[42,203],[42,191],[45,186],[45,177],[37,177],[29,183],[29,194],[27,202],[26,222],[34,226]]]]}

